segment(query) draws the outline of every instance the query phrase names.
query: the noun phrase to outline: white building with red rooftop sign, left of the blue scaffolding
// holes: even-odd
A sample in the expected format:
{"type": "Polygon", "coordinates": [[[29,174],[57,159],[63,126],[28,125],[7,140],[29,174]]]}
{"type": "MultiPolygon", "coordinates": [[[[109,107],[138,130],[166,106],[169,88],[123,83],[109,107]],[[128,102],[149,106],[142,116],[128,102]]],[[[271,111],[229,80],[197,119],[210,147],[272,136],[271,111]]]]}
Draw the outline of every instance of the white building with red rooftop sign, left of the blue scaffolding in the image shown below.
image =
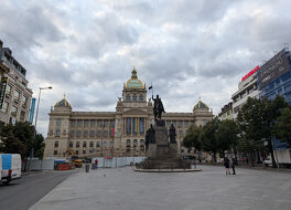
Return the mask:
{"type": "Polygon", "coordinates": [[[258,70],[259,66],[246,74],[238,84],[238,91],[231,95],[234,119],[237,118],[238,111],[247,102],[248,97],[259,97],[259,90],[257,86],[258,70]]]}

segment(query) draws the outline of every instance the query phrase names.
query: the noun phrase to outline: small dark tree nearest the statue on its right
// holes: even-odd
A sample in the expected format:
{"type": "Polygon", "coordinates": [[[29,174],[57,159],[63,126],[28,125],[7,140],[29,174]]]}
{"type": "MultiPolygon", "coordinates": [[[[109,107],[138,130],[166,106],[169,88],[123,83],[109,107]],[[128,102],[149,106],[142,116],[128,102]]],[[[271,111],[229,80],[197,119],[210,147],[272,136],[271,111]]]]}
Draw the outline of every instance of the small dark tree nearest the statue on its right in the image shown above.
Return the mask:
{"type": "Polygon", "coordinates": [[[183,139],[183,146],[186,148],[195,147],[195,149],[201,150],[201,127],[197,127],[196,125],[191,125],[187,129],[186,136],[183,139]]]}

